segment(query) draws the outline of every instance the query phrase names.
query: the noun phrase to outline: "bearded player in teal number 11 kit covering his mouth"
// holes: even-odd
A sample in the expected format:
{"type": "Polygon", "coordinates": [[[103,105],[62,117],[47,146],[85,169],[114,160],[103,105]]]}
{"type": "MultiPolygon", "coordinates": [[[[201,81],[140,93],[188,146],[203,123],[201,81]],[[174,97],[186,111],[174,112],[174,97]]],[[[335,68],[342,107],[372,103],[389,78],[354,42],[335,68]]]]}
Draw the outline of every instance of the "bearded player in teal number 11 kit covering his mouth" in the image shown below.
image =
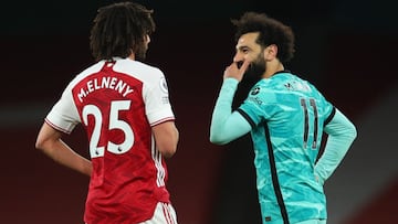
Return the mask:
{"type": "Polygon", "coordinates": [[[224,145],[251,132],[264,224],[325,224],[323,184],[356,138],[356,128],[312,84],[285,70],[294,53],[291,28],[255,12],[232,22],[237,53],[223,74],[210,141],[224,145]],[[232,111],[243,75],[259,81],[232,111]],[[324,132],[328,138],[316,160],[324,132]]]}

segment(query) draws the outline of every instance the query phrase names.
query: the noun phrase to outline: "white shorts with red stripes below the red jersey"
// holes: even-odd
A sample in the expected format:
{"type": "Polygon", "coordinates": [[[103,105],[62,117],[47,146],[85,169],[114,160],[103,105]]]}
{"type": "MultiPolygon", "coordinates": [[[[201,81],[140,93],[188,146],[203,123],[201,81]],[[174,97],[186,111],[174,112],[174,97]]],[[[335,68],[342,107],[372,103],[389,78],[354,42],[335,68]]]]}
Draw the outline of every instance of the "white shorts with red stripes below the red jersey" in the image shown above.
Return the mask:
{"type": "Polygon", "coordinates": [[[177,224],[176,211],[171,204],[159,202],[154,216],[139,224],[177,224]]]}

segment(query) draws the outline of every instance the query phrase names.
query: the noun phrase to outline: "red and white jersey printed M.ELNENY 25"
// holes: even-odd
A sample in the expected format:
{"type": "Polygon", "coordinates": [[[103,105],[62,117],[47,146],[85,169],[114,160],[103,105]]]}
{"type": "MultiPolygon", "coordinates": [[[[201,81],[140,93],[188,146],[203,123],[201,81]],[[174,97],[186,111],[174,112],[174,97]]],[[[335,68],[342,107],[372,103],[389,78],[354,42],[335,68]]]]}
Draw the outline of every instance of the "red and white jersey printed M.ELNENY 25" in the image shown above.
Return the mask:
{"type": "Polygon", "coordinates": [[[151,127],[174,119],[163,72],[144,63],[102,61],[69,84],[45,120],[66,134],[82,124],[87,132],[93,173],[86,223],[143,222],[159,201],[169,203],[151,127]]]}

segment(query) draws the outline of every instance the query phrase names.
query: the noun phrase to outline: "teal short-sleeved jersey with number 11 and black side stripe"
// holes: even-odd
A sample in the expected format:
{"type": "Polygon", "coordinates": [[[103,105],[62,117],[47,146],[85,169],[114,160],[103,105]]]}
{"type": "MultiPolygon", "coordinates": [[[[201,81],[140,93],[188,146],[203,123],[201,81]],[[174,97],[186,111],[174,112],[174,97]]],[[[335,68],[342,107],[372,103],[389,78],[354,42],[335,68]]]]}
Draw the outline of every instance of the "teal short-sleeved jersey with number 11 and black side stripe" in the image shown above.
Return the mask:
{"type": "Polygon", "coordinates": [[[308,82],[281,72],[256,83],[238,111],[252,126],[263,223],[326,218],[314,168],[333,105],[308,82]]]}

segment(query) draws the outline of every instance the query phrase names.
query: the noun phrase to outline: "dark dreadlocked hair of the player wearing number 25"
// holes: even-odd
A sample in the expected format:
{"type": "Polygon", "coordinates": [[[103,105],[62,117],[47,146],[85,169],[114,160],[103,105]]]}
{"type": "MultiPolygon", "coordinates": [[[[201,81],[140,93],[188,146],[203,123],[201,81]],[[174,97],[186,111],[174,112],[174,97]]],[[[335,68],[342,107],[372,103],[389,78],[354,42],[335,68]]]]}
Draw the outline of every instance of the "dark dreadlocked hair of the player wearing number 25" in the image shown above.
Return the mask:
{"type": "Polygon", "coordinates": [[[153,10],[134,2],[102,7],[91,30],[90,47],[96,61],[128,57],[133,52],[145,57],[145,36],[155,32],[153,10]]]}

